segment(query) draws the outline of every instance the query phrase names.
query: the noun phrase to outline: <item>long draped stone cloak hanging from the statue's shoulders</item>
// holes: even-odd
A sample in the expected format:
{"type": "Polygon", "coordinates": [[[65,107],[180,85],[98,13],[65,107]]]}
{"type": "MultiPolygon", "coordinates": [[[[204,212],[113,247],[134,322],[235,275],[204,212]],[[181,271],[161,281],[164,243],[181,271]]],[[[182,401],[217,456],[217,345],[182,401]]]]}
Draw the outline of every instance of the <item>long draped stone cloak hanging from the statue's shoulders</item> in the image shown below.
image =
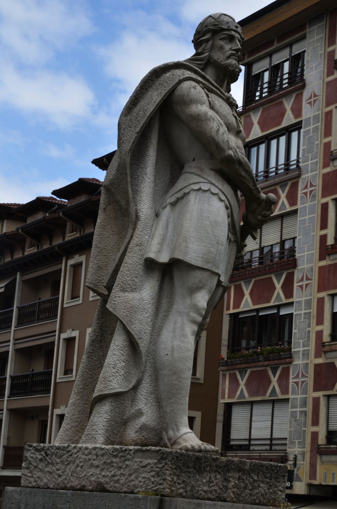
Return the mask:
{"type": "MultiPolygon", "coordinates": [[[[57,443],[160,443],[155,346],[173,281],[170,265],[145,263],[144,256],[156,211],[182,172],[165,140],[160,106],[184,80],[228,102],[201,70],[173,62],[150,71],[124,107],[88,270],[87,286],[102,298],[57,443]]],[[[238,203],[231,209],[238,229],[238,203]]]]}

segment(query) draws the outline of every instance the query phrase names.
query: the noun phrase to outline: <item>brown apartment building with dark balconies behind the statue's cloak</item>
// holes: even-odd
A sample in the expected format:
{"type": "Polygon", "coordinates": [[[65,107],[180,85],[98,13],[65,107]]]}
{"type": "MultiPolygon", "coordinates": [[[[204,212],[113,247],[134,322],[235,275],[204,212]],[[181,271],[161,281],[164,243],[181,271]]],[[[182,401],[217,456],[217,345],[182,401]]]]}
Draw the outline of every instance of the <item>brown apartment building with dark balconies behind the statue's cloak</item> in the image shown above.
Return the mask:
{"type": "MultiPolygon", "coordinates": [[[[113,155],[93,162],[105,170],[113,155]]],[[[85,281],[101,186],[80,178],[0,204],[0,507],[4,488],[20,484],[24,444],[53,443],[67,411],[99,300],[85,281]]],[[[218,447],[223,307],[196,346],[189,403],[190,427],[218,447]]]]}

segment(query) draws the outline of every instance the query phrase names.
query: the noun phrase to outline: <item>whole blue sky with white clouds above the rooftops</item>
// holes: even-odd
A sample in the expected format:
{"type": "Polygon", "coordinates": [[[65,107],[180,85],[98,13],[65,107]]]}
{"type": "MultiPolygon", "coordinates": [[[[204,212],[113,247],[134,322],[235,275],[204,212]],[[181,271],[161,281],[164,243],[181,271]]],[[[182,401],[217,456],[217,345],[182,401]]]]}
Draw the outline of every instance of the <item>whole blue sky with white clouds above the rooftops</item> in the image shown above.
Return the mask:
{"type": "Polygon", "coordinates": [[[102,180],[91,160],[117,148],[118,117],[139,80],[188,58],[207,14],[240,20],[270,3],[0,0],[0,203],[102,180]]]}

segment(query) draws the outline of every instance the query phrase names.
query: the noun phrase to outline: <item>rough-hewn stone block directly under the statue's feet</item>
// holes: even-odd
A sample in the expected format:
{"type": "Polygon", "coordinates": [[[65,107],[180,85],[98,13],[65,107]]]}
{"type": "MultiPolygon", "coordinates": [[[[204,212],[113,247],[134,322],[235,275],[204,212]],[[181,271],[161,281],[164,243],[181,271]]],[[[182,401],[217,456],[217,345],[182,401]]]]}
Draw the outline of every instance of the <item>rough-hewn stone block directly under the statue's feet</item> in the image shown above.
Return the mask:
{"type": "Polygon", "coordinates": [[[160,447],[26,444],[21,486],[255,505],[284,502],[287,467],[160,447]]]}

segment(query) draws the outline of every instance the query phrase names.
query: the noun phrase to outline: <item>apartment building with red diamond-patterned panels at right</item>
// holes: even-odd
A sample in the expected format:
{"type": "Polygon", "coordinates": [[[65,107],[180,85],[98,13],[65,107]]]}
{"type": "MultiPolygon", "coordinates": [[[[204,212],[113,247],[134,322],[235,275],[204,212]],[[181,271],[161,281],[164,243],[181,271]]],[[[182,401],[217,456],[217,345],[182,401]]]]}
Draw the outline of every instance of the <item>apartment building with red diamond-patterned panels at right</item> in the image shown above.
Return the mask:
{"type": "Polygon", "coordinates": [[[273,2],[241,20],[246,154],[274,215],[227,294],[222,454],[288,465],[288,493],[337,473],[337,9],[273,2]]]}

